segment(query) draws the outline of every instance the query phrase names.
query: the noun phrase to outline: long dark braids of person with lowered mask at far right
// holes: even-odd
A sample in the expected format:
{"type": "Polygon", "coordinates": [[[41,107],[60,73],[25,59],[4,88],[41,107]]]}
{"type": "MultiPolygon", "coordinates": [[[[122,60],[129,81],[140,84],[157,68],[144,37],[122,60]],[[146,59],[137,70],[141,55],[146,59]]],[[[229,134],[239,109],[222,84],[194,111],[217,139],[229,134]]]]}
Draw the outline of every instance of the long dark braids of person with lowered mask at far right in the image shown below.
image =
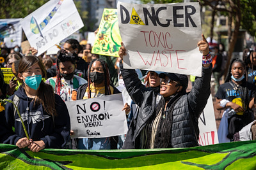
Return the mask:
{"type": "Polygon", "coordinates": [[[248,84],[248,77],[247,77],[247,71],[246,71],[246,64],[245,62],[243,62],[243,60],[241,59],[238,59],[238,58],[235,58],[235,59],[232,59],[231,62],[230,62],[230,66],[228,67],[228,74],[227,74],[227,77],[226,77],[226,80],[225,80],[225,83],[227,82],[230,82],[231,81],[231,69],[232,69],[232,66],[235,62],[240,62],[241,65],[244,67],[245,71],[244,71],[244,79],[242,80],[242,84],[244,84],[243,86],[239,85],[238,87],[238,91],[239,91],[239,95],[241,96],[241,99],[242,99],[242,103],[243,103],[243,108],[244,110],[247,110],[247,106],[250,102],[250,92],[249,92],[249,89],[247,88],[247,84],[248,84]]]}

